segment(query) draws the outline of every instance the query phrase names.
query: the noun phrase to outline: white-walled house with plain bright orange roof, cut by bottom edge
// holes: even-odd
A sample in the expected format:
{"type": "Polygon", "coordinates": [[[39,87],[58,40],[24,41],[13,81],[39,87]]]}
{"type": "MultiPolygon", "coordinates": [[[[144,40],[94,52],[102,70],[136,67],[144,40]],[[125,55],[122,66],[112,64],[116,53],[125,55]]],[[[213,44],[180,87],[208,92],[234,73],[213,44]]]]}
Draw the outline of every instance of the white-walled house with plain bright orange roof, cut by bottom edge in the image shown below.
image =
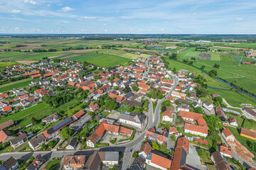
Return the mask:
{"type": "Polygon", "coordinates": [[[171,167],[171,159],[150,152],[149,157],[146,157],[146,164],[154,166],[156,169],[166,170],[171,167]]]}

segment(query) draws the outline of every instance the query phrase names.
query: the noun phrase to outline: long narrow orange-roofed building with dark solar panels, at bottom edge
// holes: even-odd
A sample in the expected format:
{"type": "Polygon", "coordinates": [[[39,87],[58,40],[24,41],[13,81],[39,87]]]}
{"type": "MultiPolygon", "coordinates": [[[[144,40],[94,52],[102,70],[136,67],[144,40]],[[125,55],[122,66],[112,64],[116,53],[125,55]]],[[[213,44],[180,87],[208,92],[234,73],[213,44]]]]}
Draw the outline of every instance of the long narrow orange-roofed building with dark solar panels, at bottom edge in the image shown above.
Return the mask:
{"type": "Polygon", "coordinates": [[[174,159],[172,160],[171,170],[186,168],[186,156],[188,154],[189,142],[186,137],[180,137],[174,150],[174,159]]]}

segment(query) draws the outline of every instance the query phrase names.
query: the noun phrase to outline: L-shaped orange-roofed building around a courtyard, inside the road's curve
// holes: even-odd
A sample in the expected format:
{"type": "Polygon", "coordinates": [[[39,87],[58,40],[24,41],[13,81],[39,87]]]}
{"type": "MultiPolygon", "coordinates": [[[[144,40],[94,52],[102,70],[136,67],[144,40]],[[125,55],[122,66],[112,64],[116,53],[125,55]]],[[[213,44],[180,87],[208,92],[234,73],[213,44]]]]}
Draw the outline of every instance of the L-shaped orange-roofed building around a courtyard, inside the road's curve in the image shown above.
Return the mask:
{"type": "Polygon", "coordinates": [[[95,147],[96,143],[100,140],[100,138],[105,134],[105,132],[109,132],[112,133],[114,135],[119,135],[123,134],[123,135],[127,135],[127,136],[131,136],[133,130],[130,130],[128,128],[124,128],[122,126],[119,125],[111,125],[108,124],[105,120],[100,123],[100,126],[97,128],[97,130],[95,130],[95,132],[92,133],[92,135],[90,135],[90,137],[88,138],[86,144],[88,147],[95,147]]]}

